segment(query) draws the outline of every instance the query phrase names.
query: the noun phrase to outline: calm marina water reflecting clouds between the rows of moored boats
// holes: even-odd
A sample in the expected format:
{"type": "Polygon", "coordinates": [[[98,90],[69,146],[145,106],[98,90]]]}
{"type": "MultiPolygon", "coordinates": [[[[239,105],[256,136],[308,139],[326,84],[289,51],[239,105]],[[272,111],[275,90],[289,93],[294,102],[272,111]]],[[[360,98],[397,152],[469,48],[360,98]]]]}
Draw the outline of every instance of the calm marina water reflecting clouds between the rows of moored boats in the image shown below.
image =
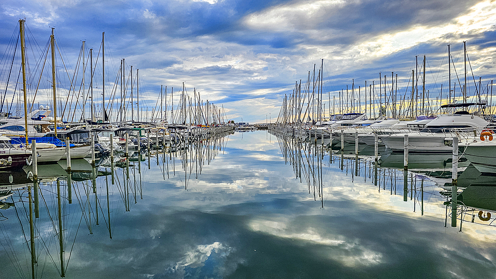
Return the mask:
{"type": "MultiPolygon", "coordinates": [[[[353,159],[294,145],[236,133],[190,148],[186,172],[181,151],[120,163],[114,184],[100,166],[96,195],[73,173],[71,204],[63,167],[40,166],[36,277],[61,275],[58,176],[66,278],[495,278],[496,228],[444,227],[442,174],[410,173],[405,202],[401,171],[374,186],[370,163],[354,176],[353,159]]],[[[27,196],[0,212],[1,278],[31,278],[27,196]]]]}

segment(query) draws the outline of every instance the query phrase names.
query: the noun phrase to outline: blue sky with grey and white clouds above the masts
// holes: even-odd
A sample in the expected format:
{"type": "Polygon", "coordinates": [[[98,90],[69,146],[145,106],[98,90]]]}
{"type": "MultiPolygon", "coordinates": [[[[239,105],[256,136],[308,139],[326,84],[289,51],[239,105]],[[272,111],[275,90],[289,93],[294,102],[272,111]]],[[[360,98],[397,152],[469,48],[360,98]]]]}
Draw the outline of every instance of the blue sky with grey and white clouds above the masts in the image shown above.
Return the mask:
{"type": "MultiPolygon", "coordinates": [[[[458,74],[452,69],[452,83],[459,84],[464,78],[463,41],[472,68],[469,96],[475,92],[474,79],[482,78],[482,93],[487,94],[494,78],[496,1],[490,0],[3,0],[0,11],[2,76],[20,18],[26,18],[27,40],[39,46],[40,54],[55,27],[70,73],[66,80],[77,67],[81,42],[86,41],[86,57],[90,48],[96,56],[105,32],[106,92],[125,58],[127,72],[130,65],[139,68],[140,106],[150,111],[161,85],[164,90],[167,86],[170,98],[171,87],[179,96],[184,82],[188,93],[196,90],[203,101],[224,105],[229,119],[265,122],[270,115],[273,120],[284,95],[300,79],[303,90],[308,71],[314,64],[318,68],[321,59],[323,92],[330,92],[326,98],[337,98],[347,85],[351,89],[353,79],[356,88],[363,88],[366,80],[378,84],[379,72],[382,78],[387,75],[388,86],[391,72],[397,74],[403,96],[411,87],[415,56],[422,63],[424,55],[426,90],[435,99],[443,84],[446,98],[447,44],[458,74]]],[[[31,59],[32,69],[37,59],[31,59]]],[[[101,62],[96,63],[94,85],[100,92],[101,62]]],[[[80,82],[74,84],[77,91],[80,82]]],[[[101,102],[99,97],[95,101],[101,102]]]]}

